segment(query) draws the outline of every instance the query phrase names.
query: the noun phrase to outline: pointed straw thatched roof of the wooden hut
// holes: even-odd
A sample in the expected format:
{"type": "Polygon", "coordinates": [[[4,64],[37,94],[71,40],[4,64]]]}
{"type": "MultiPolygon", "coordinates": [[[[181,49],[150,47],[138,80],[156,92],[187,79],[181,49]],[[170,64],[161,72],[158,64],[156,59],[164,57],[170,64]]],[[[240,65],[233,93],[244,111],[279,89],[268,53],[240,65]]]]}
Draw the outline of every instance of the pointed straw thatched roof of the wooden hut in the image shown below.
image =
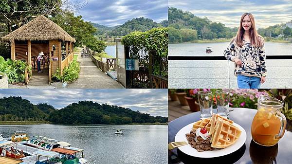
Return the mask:
{"type": "Polygon", "coordinates": [[[76,40],[70,36],[60,26],[45,16],[38,16],[27,24],[19,27],[17,30],[2,37],[2,40],[76,40]]]}

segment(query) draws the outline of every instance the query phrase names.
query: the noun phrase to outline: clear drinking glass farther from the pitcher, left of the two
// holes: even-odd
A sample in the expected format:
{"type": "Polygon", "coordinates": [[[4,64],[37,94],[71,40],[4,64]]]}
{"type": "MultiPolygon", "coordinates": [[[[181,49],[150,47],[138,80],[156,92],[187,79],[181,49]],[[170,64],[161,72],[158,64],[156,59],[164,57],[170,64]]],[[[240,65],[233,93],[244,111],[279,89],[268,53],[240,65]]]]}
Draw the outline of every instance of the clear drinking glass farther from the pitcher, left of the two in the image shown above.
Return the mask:
{"type": "Polygon", "coordinates": [[[198,101],[201,111],[201,119],[212,117],[212,91],[199,91],[198,101]]]}

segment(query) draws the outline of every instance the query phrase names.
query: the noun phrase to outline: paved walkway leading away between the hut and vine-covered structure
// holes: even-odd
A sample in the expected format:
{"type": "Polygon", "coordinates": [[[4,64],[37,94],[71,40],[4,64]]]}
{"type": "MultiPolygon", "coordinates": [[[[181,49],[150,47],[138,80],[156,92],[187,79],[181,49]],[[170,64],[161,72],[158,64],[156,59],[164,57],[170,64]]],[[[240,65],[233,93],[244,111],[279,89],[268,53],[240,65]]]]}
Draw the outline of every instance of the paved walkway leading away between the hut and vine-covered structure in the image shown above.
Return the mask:
{"type": "Polygon", "coordinates": [[[67,88],[124,88],[106,73],[100,71],[91,61],[90,57],[82,58],[79,54],[77,62],[80,64],[79,78],[77,81],[69,83],[67,88]]]}

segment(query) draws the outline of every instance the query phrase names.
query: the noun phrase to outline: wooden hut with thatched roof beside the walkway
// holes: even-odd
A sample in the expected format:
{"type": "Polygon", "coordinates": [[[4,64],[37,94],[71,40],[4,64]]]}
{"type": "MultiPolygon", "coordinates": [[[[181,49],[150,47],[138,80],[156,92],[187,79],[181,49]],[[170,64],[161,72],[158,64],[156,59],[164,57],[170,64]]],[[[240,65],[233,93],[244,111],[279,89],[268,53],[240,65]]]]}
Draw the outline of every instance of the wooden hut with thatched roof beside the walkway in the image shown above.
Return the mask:
{"type": "Polygon", "coordinates": [[[74,58],[73,42],[76,40],[45,16],[38,16],[1,39],[10,42],[12,60],[26,60],[30,67],[34,66],[34,70],[37,55],[43,52],[42,68],[43,72],[48,70],[49,82],[57,68],[62,74],[74,58]],[[65,49],[62,50],[62,47],[65,49]]]}

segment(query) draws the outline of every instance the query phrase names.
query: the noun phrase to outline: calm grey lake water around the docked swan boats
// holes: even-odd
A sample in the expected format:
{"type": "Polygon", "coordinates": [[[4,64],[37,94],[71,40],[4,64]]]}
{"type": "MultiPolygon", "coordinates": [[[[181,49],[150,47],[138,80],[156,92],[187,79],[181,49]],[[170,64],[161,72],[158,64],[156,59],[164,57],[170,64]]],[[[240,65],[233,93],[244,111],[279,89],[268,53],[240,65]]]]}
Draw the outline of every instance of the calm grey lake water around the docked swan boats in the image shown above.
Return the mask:
{"type": "Polygon", "coordinates": [[[83,148],[90,164],[166,164],[167,126],[159,125],[0,125],[3,137],[25,130],[83,148]],[[123,136],[114,134],[117,128],[123,136]]]}

